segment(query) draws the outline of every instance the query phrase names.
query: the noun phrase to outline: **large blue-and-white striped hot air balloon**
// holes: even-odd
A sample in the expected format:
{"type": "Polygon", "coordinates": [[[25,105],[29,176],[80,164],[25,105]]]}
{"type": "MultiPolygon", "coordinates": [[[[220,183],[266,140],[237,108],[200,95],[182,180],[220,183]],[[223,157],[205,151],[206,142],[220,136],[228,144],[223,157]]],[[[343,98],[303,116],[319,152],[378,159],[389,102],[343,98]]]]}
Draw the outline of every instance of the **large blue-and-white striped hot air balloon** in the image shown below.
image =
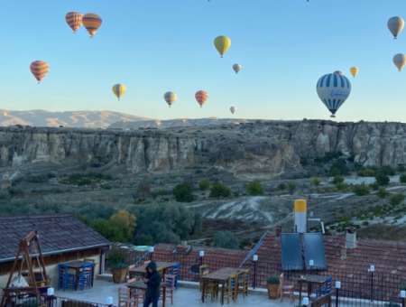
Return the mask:
{"type": "Polygon", "coordinates": [[[316,87],[318,98],[328,107],[328,110],[334,116],[339,107],[341,107],[346,98],[351,93],[351,83],[345,76],[337,73],[329,73],[318,79],[316,87]]]}

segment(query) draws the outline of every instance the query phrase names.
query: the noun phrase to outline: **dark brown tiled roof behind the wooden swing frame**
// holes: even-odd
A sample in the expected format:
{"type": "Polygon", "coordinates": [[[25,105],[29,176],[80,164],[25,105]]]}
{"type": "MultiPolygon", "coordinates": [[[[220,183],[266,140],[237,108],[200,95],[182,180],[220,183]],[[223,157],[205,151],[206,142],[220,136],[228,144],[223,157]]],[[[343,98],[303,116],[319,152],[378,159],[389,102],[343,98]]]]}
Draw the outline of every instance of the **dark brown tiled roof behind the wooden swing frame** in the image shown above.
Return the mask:
{"type": "Polygon", "coordinates": [[[0,262],[13,260],[20,240],[35,229],[43,255],[112,244],[71,213],[0,217],[0,262]]]}

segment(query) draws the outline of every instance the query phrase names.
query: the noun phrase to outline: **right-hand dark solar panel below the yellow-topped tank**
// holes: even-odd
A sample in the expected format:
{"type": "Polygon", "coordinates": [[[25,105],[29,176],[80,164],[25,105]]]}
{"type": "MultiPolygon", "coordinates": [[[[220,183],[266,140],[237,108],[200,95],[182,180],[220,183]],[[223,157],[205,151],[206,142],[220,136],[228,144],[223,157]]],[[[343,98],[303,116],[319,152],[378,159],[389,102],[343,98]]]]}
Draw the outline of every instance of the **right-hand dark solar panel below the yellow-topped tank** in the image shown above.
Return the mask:
{"type": "Polygon", "coordinates": [[[326,252],[324,250],[323,235],[321,233],[303,234],[306,268],[309,270],[309,261],[313,260],[313,266],[318,269],[326,269],[326,252]]]}

